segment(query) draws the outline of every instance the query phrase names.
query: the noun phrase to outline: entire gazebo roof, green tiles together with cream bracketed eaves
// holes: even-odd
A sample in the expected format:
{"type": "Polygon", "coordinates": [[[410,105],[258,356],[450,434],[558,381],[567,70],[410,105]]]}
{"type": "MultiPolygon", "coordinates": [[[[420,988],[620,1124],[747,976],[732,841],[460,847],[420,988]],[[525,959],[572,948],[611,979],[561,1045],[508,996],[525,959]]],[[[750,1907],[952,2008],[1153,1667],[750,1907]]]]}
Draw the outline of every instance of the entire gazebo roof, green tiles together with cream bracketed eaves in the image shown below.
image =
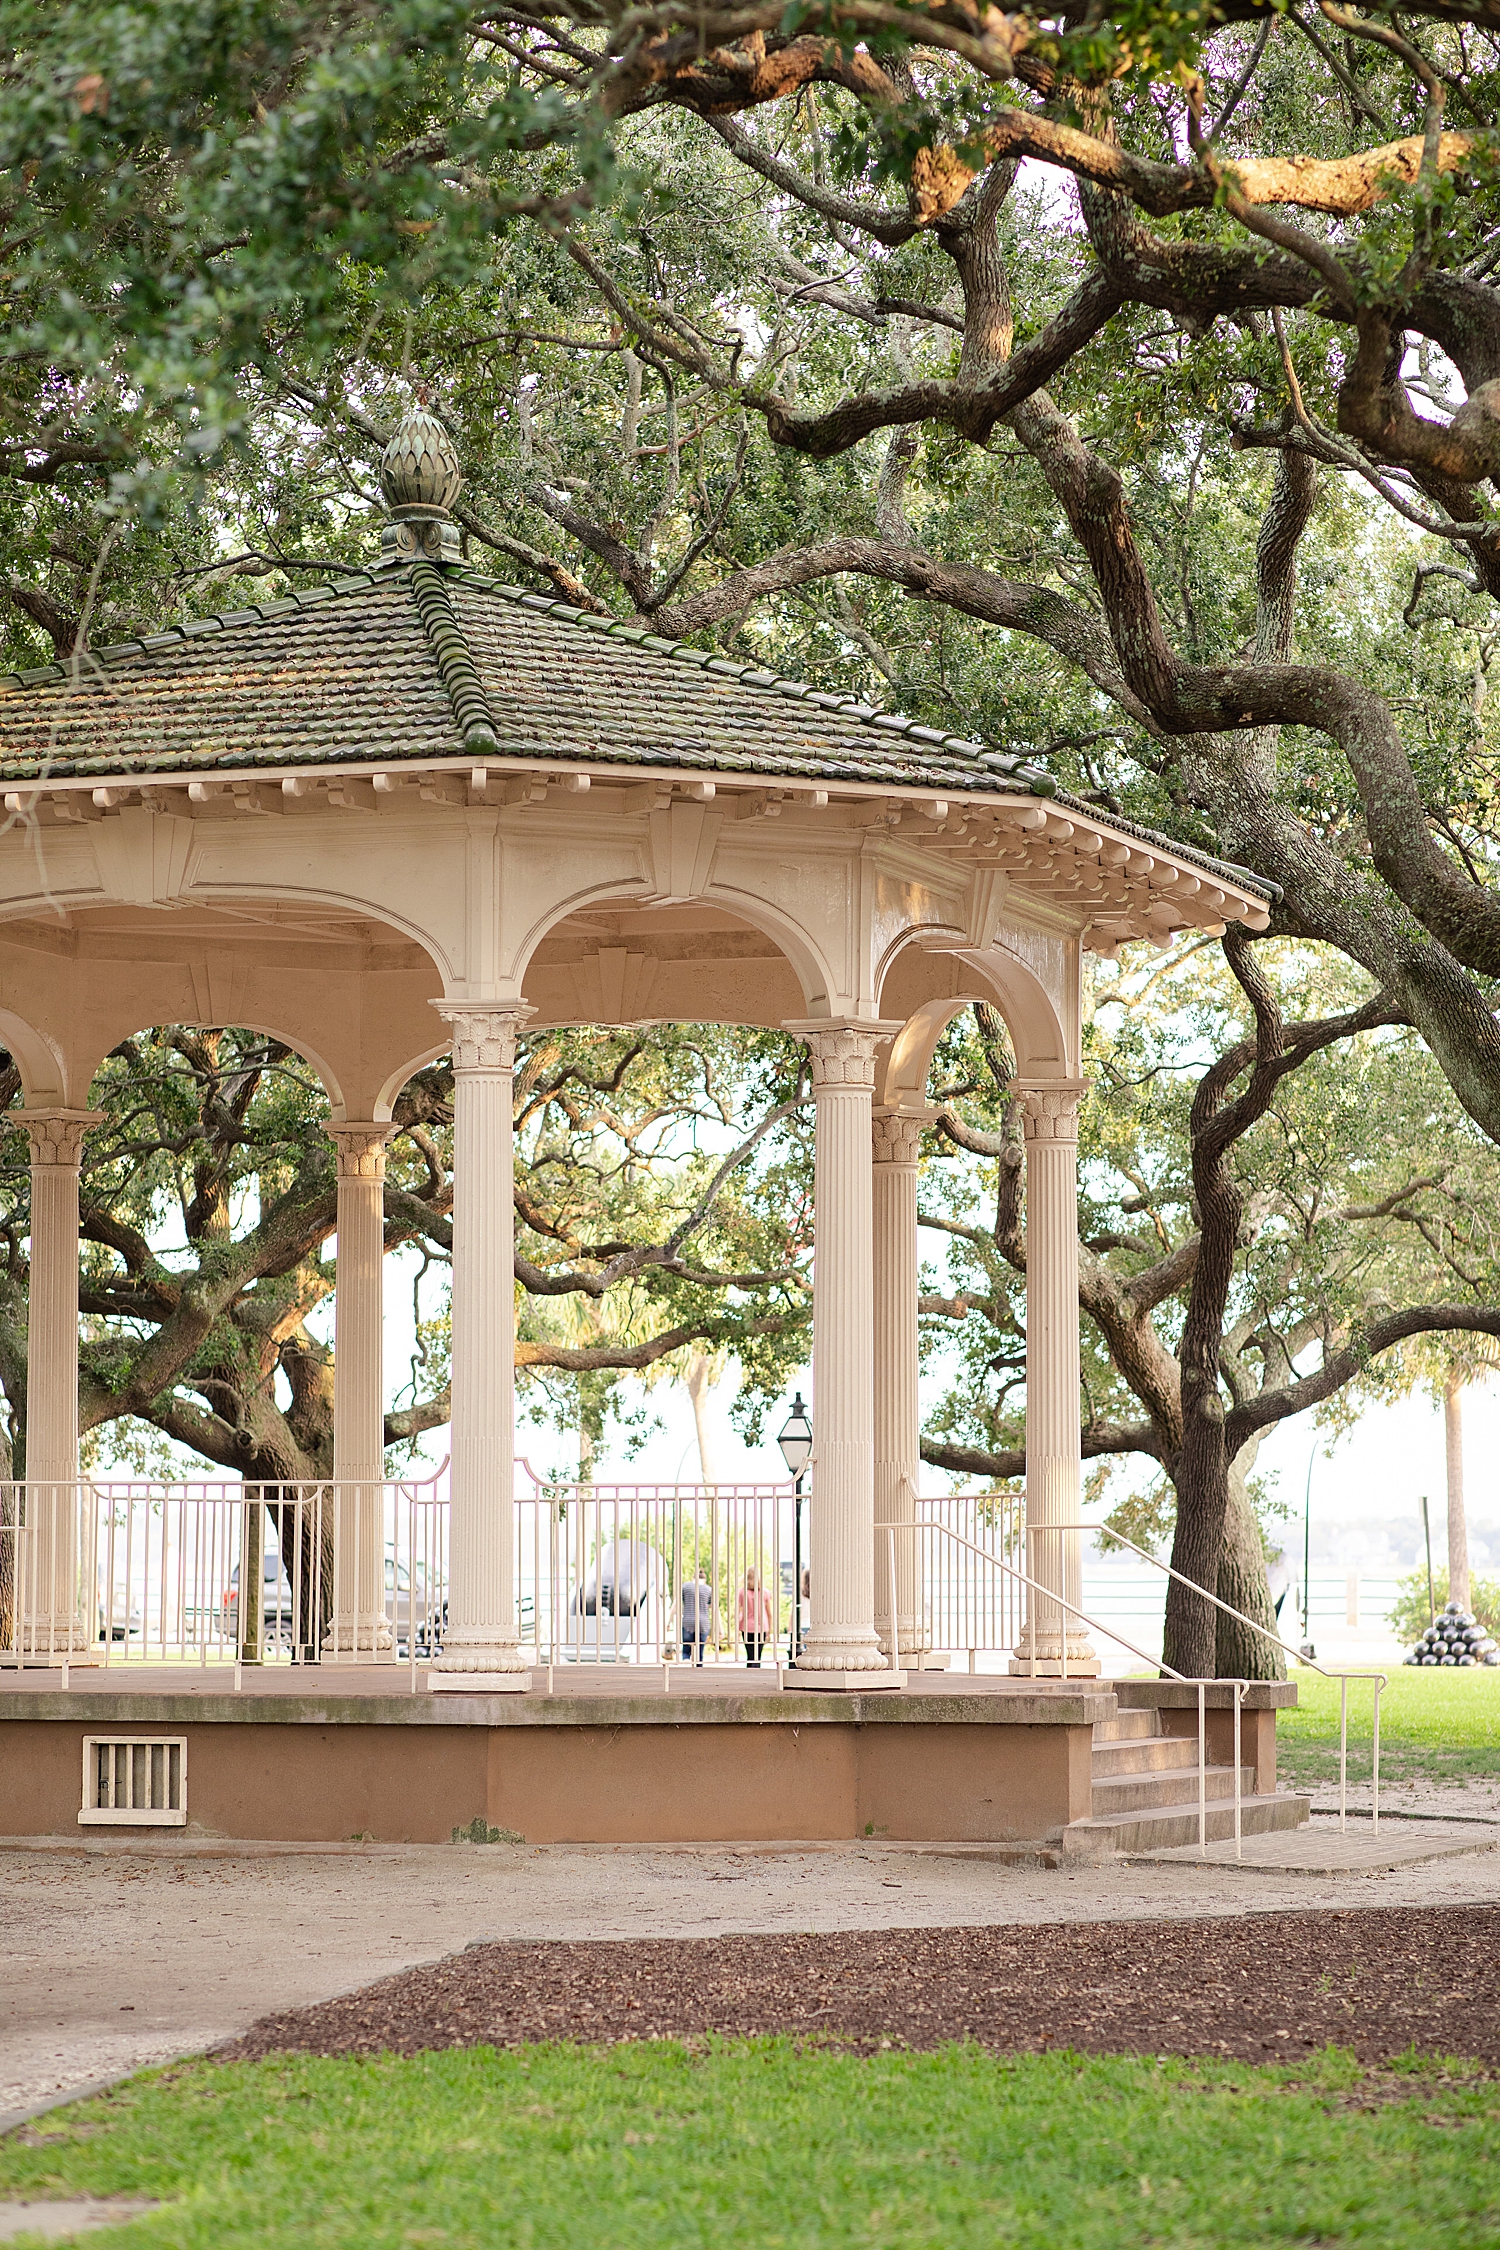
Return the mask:
{"type": "Polygon", "coordinates": [[[416,783],[495,801],[526,776],[535,796],[540,776],[582,790],[643,770],[697,796],[884,801],[891,824],[938,850],[1007,868],[1097,950],[1235,916],[1264,927],[1275,896],[1246,868],[1075,803],[1025,758],[501,585],[448,554],[394,556],[0,675],[7,812],[43,824],[99,819],[135,794],[191,812],[378,803],[371,792],[416,783]],[[1154,891],[1169,882],[1172,900],[1147,896],[1147,878],[1154,891]]]}

